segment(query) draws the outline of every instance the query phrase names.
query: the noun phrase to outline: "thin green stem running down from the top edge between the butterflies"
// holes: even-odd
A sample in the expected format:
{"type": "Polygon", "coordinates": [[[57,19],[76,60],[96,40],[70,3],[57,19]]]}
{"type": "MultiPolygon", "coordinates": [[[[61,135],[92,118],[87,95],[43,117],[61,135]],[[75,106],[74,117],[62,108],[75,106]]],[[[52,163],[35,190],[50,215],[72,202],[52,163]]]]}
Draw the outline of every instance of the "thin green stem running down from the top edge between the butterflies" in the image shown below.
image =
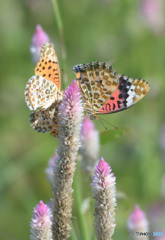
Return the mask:
{"type": "Polygon", "coordinates": [[[59,6],[58,6],[58,0],[51,0],[52,1],[52,5],[53,5],[53,10],[54,10],[54,16],[57,22],[57,27],[58,27],[58,31],[59,31],[59,35],[60,35],[60,42],[61,42],[61,55],[62,55],[62,88],[64,88],[64,85],[67,83],[67,74],[66,74],[66,59],[67,59],[67,55],[66,55],[66,48],[65,48],[65,39],[64,39],[64,28],[63,28],[63,23],[62,23],[62,18],[61,18],[61,14],[60,14],[60,10],[59,10],[59,6]]]}

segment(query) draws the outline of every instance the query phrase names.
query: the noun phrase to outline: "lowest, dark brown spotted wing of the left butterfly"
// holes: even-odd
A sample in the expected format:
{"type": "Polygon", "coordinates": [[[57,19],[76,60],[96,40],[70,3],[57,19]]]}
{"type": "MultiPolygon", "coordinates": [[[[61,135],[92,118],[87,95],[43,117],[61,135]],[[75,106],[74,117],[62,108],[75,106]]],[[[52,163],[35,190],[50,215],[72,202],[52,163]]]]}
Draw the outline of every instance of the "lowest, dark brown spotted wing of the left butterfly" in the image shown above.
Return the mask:
{"type": "Polygon", "coordinates": [[[58,106],[60,102],[53,103],[47,109],[39,109],[30,115],[31,126],[38,132],[51,132],[51,135],[58,137],[58,106]]]}

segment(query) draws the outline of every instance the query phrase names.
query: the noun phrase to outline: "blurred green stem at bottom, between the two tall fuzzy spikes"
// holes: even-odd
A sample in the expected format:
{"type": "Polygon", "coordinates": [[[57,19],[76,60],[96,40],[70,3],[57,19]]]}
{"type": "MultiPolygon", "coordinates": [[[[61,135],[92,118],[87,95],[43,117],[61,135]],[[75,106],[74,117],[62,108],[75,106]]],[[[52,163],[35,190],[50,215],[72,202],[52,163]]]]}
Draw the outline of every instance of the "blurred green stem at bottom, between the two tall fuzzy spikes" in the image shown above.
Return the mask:
{"type": "Polygon", "coordinates": [[[80,232],[81,232],[81,239],[89,239],[89,235],[88,235],[88,231],[87,231],[87,226],[85,224],[85,216],[81,211],[81,206],[82,206],[82,197],[81,197],[81,191],[80,191],[80,181],[78,181],[78,179],[80,179],[80,176],[78,177],[78,165],[77,165],[77,169],[75,172],[75,177],[74,177],[74,182],[73,182],[73,187],[74,187],[74,201],[75,201],[75,208],[76,208],[76,213],[77,213],[77,217],[78,217],[78,222],[79,222],[79,226],[80,226],[80,232]]]}

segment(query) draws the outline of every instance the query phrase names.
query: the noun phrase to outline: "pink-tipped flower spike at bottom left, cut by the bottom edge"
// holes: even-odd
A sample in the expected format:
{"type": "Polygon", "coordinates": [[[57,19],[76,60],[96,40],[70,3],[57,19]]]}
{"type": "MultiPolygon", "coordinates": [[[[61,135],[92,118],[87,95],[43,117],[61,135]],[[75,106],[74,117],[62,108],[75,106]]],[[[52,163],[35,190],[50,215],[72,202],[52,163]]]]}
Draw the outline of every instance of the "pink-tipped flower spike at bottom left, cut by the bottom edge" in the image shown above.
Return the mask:
{"type": "Polygon", "coordinates": [[[31,240],[52,240],[51,218],[52,215],[49,207],[40,201],[34,209],[30,223],[31,240]]]}

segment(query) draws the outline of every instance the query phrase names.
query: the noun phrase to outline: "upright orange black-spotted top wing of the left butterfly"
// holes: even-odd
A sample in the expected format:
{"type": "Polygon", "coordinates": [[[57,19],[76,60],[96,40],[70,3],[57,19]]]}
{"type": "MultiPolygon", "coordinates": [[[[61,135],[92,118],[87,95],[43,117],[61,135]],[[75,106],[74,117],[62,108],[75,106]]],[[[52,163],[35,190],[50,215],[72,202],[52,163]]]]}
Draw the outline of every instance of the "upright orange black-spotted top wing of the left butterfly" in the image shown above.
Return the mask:
{"type": "Polygon", "coordinates": [[[60,90],[61,77],[59,62],[52,45],[46,42],[41,49],[41,58],[35,68],[35,74],[53,82],[60,90]]]}

